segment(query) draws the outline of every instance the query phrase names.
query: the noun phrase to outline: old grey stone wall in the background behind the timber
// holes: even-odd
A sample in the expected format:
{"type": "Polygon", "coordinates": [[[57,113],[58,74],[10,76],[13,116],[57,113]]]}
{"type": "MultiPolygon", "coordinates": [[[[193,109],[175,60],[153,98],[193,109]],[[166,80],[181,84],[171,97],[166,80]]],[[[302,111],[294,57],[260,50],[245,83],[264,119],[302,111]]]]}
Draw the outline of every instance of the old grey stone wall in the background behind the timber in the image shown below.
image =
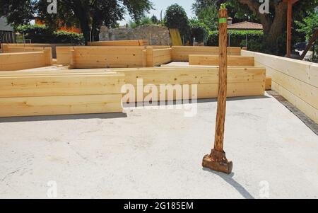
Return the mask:
{"type": "Polygon", "coordinates": [[[141,25],[137,28],[100,28],[100,41],[148,40],[149,45],[171,45],[169,29],[158,25],[141,25]]]}

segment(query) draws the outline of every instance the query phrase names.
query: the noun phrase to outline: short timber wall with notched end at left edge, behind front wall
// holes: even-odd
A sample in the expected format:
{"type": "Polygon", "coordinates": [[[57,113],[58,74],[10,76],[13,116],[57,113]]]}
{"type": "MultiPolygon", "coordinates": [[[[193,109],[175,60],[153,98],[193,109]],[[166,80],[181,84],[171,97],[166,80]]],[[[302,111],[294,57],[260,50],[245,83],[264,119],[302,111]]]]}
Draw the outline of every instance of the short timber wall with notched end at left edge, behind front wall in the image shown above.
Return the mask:
{"type": "Polygon", "coordinates": [[[15,52],[0,54],[0,71],[16,71],[52,66],[52,49],[41,52],[15,52]]]}

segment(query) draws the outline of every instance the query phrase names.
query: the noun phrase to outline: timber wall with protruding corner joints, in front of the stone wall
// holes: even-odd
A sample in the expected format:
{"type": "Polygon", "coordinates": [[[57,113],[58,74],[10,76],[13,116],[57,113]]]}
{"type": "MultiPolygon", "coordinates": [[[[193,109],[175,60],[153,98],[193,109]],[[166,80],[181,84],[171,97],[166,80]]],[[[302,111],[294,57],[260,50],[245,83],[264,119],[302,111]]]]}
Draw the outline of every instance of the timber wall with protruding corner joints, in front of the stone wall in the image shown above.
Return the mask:
{"type": "Polygon", "coordinates": [[[169,62],[170,47],[57,47],[57,64],[71,69],[156,67],[169,62]]]}

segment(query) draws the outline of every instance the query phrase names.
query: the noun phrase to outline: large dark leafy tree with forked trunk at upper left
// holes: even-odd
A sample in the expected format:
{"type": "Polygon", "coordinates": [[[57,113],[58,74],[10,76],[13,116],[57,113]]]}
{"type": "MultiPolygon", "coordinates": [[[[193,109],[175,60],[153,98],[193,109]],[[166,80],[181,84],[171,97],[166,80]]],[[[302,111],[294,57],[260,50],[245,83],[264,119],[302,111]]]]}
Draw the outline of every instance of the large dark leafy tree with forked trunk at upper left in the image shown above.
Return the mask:
{"type": "Polygon", "coordinates": [[[126,11],[138,21],[152,8],[149,0],[59,0],[57,14],[49,14],[47,0],[0,0],[0,5],[0,16],[7,16],[13,25],[28,23],[36,13],[52,29],[57,25],[78,25],[86,42],[90,40],[90,32],[98,40],[100,26],[116,26],[126,11]]]}

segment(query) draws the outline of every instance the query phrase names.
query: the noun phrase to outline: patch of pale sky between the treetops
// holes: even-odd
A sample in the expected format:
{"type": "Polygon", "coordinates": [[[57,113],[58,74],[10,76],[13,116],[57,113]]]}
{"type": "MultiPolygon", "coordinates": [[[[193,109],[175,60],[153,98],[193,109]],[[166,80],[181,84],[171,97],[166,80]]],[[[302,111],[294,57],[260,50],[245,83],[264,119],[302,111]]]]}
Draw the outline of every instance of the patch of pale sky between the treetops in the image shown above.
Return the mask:
{"type": "MultiPolygon", "coordinates": [[[[189,18],[194,17],[194,13],[192,12],[192,4],[194,4],[195,0],[150,0],[153,3],[153,10],[147,14],[147,16],[157,16],[158,19],[160,19],[160,12],[163,10],[163,17],[165,16],[165,10],[168,6],[172,4],[179,4],[179,6],[182,6],[184,10],[186,11],[189,18]]],[[[120,21],[120,25],[125,25],[131,20],[129,15],[126,15],[125,20],[120,21]]]]}

